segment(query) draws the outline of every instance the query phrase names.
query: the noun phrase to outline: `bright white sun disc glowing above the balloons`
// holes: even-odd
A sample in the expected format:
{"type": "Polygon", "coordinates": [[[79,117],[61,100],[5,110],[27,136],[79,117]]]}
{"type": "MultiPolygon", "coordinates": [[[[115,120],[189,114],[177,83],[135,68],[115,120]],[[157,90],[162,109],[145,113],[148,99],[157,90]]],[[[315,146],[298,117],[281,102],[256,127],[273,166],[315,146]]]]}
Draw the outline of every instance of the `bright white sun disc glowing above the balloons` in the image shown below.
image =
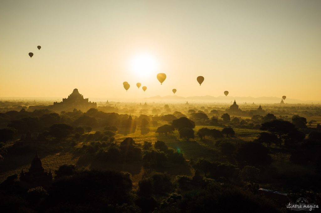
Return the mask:
{"type": "Polygon", "coordinates": [[[147,77],[156,73],[158,62],[149,53],[136,55],[130,62],[131,70],[139,77],[147,77]]]}

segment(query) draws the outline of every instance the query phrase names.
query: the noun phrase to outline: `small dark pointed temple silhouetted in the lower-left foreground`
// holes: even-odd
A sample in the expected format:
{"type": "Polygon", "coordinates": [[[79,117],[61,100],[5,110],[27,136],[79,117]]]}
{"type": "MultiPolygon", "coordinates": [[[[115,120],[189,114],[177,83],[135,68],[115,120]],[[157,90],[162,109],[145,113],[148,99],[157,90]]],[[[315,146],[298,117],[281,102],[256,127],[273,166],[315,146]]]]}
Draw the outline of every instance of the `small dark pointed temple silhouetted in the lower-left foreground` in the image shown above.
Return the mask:
{"type": "Polygon", "coordinates": [[[51,170],[45,172],[42,167],[42,162],[36,153],[36,156],[31,162],[31,166],[28,172],[20,173],[20,185],[25,189],[35,188],[37,186],[42,186],[43,188],[49,188],[52,181],[51,170]]]}

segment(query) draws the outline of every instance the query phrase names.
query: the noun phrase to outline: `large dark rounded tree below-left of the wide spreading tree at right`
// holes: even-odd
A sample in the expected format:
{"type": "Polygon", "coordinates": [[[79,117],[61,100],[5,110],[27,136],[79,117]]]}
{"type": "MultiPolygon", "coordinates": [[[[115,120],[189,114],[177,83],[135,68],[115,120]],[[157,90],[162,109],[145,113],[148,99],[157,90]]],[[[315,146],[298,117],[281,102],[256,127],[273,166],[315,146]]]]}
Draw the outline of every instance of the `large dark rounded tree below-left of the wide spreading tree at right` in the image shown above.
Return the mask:
{"type": "Polygon", "coordinates": [[[241,144],[236,150],[235,159],[240,166],[251,165],[260,167],[269,165],[272,162],[268,149],[262,144],[255,142],[241,144]]]}

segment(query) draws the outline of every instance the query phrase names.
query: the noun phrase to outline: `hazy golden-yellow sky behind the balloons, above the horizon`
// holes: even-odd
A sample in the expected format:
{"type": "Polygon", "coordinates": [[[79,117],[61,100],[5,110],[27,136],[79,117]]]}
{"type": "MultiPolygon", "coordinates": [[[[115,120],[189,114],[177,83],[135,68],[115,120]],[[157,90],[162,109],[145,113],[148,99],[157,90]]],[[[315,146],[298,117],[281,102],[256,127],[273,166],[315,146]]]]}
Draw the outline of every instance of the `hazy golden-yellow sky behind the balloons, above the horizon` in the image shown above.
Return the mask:
{"type": "Polygon", "coordinates": [[[176,88],[321,100],[320,11],[320,0],[0,0],[0,97],[78,88],[84,97],[142,98],[176,88]],[[157,64],[146,75],[132,65],[142,54],[157,64]],[[166,73],[163,85],[157,73],[166,73]]]}

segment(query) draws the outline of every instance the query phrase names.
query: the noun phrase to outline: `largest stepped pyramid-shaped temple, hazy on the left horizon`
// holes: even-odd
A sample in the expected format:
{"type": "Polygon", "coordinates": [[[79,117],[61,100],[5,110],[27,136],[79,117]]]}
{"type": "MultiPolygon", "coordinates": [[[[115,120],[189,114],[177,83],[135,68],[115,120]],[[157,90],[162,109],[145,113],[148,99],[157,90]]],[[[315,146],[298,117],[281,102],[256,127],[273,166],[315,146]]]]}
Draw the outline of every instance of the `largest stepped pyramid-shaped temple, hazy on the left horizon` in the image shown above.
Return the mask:
{"type": "Polygon", "coordinates": [[[54,102],[54,105],[52,106],[52,109],[57,111],[73,111],[74,109],[78,109],[86,112],[91,108],[97,108],[97,103],[88,102],[88,99],[84,99],[83,95],[80,94],[77,89],[74,89],[68,98],[62,99],[62,102],[60,103],[54,102]]]}

